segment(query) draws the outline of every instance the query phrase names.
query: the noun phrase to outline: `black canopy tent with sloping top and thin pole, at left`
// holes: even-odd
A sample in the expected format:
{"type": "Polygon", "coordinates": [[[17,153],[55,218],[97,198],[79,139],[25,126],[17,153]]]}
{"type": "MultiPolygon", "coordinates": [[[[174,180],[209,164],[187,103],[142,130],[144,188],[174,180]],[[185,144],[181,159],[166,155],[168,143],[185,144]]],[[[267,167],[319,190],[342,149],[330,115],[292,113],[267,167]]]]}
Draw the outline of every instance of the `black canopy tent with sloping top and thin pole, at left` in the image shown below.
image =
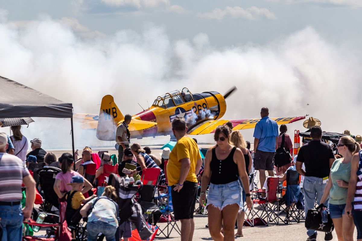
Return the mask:
{"type": "Polygon", "coordinates": [[[70,118],[74,158],[73,107],[28,86],[0,76],[0,118],[70,118]]]}

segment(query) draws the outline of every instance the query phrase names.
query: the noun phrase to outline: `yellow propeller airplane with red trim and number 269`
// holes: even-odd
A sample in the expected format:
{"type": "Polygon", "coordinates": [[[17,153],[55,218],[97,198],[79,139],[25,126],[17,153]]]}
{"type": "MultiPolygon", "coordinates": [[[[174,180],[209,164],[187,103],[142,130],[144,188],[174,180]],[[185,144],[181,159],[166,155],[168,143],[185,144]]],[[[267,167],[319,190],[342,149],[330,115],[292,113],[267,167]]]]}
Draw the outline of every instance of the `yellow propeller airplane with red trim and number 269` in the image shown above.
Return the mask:
{"type": "MultiPolygon", "coordinates": [[[[221,120],[226,112],[225,99],[236,90],[233,87],[224,96],[215,91],[191,94],[184,88],[182,91],[172,91],[158,96],[152,106],[132,116],[129,130],[131,138],[156,137],[171,135],[171,122],[176,117],[184,117],[188,124],[189,135],[214,133],[218,125],[227,121],[233,124],[233,130],[254,128],[260,118],[241,120],[221,120]]],[[[279,125],[288,124],[305,119],[299,117],[272,118],[279,125]]],[[[82,129],[96,129],[97,138],[102,141],[114,141],[119,126],[124,116],[114,103],[113,96],[106,95],[102,98],[99,115],[74,114],[73,120],[81,122],[82,129]]]]}

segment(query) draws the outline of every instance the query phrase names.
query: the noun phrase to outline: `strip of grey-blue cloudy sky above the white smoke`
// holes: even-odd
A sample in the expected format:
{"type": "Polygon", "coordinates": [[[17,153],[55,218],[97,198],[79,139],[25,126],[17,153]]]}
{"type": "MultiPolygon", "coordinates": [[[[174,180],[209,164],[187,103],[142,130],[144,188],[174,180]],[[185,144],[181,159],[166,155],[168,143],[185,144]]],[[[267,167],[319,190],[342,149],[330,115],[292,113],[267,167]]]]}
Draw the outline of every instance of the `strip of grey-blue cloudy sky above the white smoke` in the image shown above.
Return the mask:
{"type": "Polygon", "coordinates": [[[218,47],[264,44],[306,26],[336,41],[361,39],[359,0],[13,0],[1,8],[9,21],[47,15],[85,36],[142,31],[151,22],[172,40],[206,33],[218,47]]]}

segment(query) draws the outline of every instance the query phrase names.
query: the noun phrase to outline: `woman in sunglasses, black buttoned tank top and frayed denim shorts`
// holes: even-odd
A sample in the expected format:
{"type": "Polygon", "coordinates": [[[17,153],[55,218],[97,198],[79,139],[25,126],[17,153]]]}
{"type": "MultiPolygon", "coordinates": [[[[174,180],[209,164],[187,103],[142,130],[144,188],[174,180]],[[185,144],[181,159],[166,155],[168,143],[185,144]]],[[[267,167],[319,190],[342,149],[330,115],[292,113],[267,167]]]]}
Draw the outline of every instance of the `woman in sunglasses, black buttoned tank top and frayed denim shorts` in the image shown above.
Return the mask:
{"type": "MultiPolygon", "coordinates": [[[[244,208],[240,181],[244,186],[249,186],[243,152],[231,145],[230,134],[231,129],[227,126],[216,128],[214,139],[217,145],[206,153],[201,180],[201,205],[205,202],[207,185],[211,182],[206,207],[213,240],[234,240],[237,214],[244,208]],[[221,233],[222,225],[224,234],[221,233]]],[[[252,201],[249,188],[245,192],[250,209],[252,201]]]]}

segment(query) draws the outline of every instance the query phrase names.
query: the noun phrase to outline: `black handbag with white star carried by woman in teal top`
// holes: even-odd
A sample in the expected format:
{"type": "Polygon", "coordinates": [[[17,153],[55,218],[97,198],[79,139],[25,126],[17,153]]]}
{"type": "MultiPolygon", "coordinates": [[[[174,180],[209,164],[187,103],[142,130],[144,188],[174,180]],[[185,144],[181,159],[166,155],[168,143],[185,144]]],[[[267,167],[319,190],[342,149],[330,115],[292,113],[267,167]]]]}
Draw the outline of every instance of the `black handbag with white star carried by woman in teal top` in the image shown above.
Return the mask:
{"type": "Polygon", "coordinates": [[[315,209],[309,209],[306,216],[306,228],[315,231],[322,231],[330,233],[334,229],[331,215],[328,212],[328,222],[322,222],[322,208],[325,207],[323,204],[319,205],[315,209]]]}

